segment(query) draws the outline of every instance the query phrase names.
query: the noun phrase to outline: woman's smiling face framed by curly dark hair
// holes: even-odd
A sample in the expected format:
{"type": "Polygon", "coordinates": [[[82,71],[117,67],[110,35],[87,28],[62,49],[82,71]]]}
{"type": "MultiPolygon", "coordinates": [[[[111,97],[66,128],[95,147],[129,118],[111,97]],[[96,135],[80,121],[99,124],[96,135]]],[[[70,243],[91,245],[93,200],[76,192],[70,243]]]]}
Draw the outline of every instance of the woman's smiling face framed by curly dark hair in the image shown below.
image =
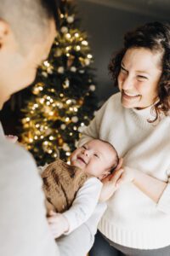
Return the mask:
{"type": "Polygon", "coordinates": [[[118,87],[124,108],[147,108],[156,102],[161,78],[161,53],[146,48],[127,49],[118,87]]]}

